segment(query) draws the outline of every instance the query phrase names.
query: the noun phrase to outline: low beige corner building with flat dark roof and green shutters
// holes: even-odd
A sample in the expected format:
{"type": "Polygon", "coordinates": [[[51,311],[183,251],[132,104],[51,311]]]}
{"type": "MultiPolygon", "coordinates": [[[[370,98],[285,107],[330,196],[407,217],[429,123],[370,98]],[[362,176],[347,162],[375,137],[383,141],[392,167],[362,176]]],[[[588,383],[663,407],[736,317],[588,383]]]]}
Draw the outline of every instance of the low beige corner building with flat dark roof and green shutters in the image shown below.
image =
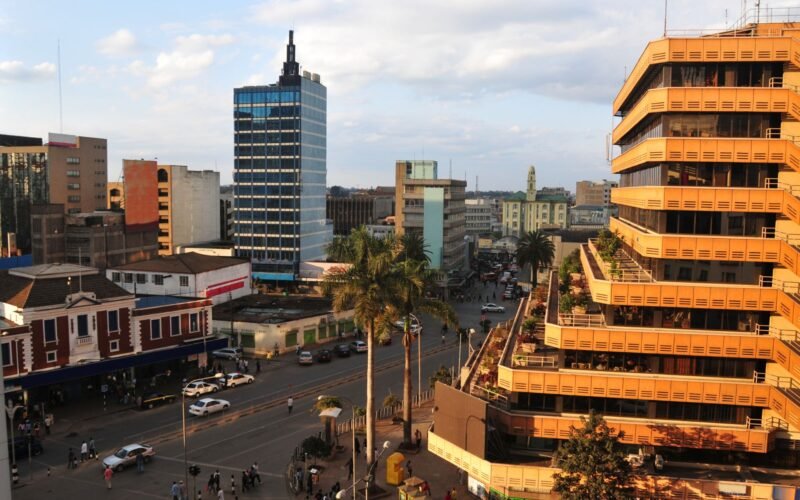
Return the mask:
{"type": "Polygon", "coordinates": [[[214,307],[214,333],[230,337],[248,354],[337,342],[355,328],[353,311],[334,312],[324,297],[259,294],[214,307]]]}

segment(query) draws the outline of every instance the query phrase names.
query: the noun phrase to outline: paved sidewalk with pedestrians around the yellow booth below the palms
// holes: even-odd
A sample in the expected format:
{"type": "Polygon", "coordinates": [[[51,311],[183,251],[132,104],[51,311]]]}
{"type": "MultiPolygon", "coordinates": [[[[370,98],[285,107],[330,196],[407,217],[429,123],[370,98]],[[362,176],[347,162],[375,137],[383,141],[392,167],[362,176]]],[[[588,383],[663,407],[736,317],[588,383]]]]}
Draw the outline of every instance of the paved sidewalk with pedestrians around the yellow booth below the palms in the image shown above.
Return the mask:
{"type": "MultiPolygon", "coordinates": [[[[403,463],[405,464],[405,462],[410,460],[414,475],[428,481],[431,487],[431,498],[444,498],[447,490],[453,487],[456,488],[458,493],[456,498],[475,498],[467,491],[466,484],[459,484],[458,469],[430,453],[427,449],[428,427],[433,420],[431,414],[432,408],[433,401],[428,401],[427,403],[423,403],[420,408],[414,408],[412,410],[413,427],[411,432],[412,436],[416,429],[422,432],[422,450],[418,453],[401,451],[401,453],[405,455],[405,461],[403,463]]],[[[359,436],[356,434],[356,437],[363,440],[363,435],[359,436]]],[[[386,458],[397,451],[397,447],[403,442],[402,424],[393,424],[391,419],[378,420],[375,426],[375,444],[379,451],[384,441],[389,441],[391,446],[381,455],[378,462],[375,471],[375,484],[383,489],[385,494],[371,494],[370,498],[397,498],[397,487],[386,484],[386,458]]],[[[339,444],[345,447],[345,451],[337,454],[333,460],[320,460],[317,462],[324,466],[325,469],[322,474],[320,474],[319,484],[315,486],[314,493],[316,493],[317,490],[322,490],[326,493],[329,492],[337,481],[343,490],[352,485],[352,478],[347,478],[347,467],[345,465],[352,454],[350,448],[351,442],[352,437],[349,433],[340,435],[339,444]]],[[[357,457],[356,478],[361,478],[366,474],[364,458],[362,450],[362,453],[357,457]]],[[[406,476],[408,476],[407,472],[406,476]]],[[[362,487],[363,483],[359,483],[359,490],[362,487]]],[[[297,498],[306,498],[305,493],[298,494],[297,498]]],[[[346,498],[350,498],[349,491],[346,498]]],[[[359,496],[359,498],[362,497],[359,496]]]]}

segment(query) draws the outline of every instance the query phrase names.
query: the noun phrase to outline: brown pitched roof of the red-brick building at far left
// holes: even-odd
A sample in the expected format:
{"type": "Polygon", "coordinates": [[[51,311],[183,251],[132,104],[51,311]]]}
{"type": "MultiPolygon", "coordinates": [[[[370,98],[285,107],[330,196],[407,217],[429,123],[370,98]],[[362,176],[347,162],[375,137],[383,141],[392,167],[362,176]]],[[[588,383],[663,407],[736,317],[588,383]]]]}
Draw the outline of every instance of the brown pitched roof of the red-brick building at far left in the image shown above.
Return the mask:
{"type": "Polygon", "coordinates": [[[129,296],[93,267],[40,264],[0,271],[0,302],[18,308],[63,304],[67,296],[86,292],[97,300],[129,296]]]}

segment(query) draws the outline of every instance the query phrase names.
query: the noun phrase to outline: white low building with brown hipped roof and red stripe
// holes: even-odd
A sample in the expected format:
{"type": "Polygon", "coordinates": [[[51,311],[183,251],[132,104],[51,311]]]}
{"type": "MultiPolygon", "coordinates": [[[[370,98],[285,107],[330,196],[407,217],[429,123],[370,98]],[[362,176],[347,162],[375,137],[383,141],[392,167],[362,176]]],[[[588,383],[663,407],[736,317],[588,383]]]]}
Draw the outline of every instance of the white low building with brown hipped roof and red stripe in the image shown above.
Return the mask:
{"type": "Polygon", "coordinates": [[[109,268],[106,277],[136,295],[210,298],[214,304],[252,293],[248,261],[194,252],[109,268]]]}

